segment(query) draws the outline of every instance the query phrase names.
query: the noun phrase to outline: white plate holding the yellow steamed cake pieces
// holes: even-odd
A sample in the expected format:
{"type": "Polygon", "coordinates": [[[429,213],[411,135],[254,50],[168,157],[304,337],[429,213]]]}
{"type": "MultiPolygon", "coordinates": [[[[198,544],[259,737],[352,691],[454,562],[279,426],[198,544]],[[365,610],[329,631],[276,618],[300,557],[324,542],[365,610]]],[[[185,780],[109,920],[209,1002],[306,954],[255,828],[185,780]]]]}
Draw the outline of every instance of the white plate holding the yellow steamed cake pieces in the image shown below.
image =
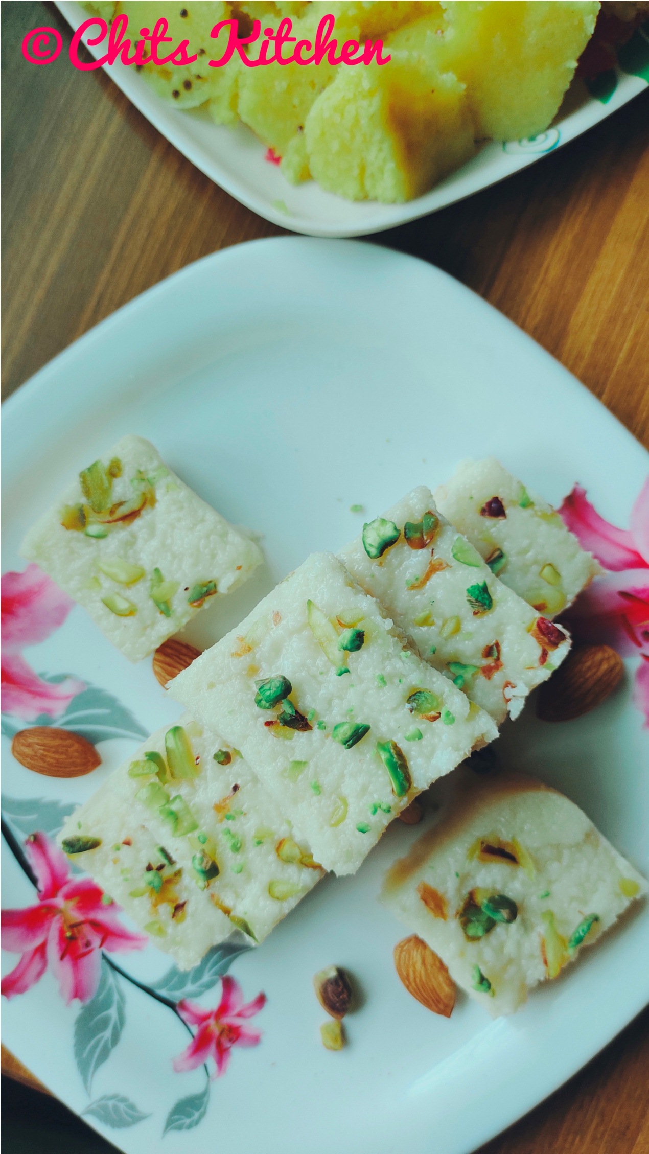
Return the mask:
{"type": "MultiPolygon", "coordinates": [[[[88,20],[88,13],[75,0],[64,0],[57,7],[74,29],[88,20]]],[[[636,36],[641,38],[640,46],[644,47],[647,55],[643,65],[647,75],[649,37],[642,38],[641,32],[636,36]]],[[[97,58],[105,48],[99,45],[89,51],[97,58]]],[[[244,125],[226,128],[212,123],[200,111],[188,113],[170,107],[155,96],[134,68],[127,68],[121,62],[106,67],[106,72],[158,132],[210,180],[267,220],[311,237],[364,237],[461,201],[580,136],[647,88],[647,80],[642,76],[619,70],[614,92],[607,103],[602,103],[589,97],[580,82],[583,97],[580,102],[577,93],[579,107],[567,114],[560,112],[554,125],[540,136],[487,144],[425,196],[406,204],[379,204],[375,201],[345,201],[326,193],[313,180],[299,186],[290,185],[279,170],[264,159],[266,148],[244,125]]]]}

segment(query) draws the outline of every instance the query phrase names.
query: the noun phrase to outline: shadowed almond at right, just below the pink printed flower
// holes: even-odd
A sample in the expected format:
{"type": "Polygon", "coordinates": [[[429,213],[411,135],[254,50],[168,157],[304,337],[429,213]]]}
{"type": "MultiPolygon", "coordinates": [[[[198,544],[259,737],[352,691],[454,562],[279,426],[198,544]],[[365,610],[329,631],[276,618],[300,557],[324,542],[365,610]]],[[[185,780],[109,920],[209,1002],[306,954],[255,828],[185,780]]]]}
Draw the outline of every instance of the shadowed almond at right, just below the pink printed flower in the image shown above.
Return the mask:
{"type": "Polygon", "coordinates": [[[570,721],[599,705],[624,676],[619,653],[610,645],[582,645],[559,666],[538,694],[542,721],[570,721]]]}

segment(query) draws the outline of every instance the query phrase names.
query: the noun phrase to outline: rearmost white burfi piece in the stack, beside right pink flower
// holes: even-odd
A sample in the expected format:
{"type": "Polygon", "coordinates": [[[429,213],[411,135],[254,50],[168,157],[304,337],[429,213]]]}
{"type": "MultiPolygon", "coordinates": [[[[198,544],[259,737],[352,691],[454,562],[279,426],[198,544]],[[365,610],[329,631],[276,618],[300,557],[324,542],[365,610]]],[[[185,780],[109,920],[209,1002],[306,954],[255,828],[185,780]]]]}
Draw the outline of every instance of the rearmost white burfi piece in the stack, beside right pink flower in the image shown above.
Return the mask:
{"type": "Polygon", "coordinates": [[[500,580],[546,617],[572,605],[602,572],[552,505],[494,457],[462,462],[435,489],[435,502],[500,580]]]}

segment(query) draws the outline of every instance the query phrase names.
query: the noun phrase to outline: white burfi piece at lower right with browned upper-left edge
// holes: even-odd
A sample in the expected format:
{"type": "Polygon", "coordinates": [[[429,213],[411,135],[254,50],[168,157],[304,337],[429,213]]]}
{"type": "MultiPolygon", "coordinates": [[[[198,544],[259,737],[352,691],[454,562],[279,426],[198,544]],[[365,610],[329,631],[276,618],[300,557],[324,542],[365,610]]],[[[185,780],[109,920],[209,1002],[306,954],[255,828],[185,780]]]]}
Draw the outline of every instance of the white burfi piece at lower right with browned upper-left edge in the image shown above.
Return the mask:
{"type": "Polygon", "coordinates": [[[442,785],[439,824],[391,868],[383,901],[493,1017],[512,1013],[647,882],[540,781],[463,767],[442,785]]]}

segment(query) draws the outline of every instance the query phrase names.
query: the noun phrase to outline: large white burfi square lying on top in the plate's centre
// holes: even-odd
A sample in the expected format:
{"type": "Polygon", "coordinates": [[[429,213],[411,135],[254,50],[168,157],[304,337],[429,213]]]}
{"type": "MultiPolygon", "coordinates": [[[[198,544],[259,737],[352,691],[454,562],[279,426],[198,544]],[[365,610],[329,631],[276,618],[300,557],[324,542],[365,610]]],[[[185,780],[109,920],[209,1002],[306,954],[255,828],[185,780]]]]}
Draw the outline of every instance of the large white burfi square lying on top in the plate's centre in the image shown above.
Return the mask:
{"type": "Polygon", "coordinates": [[[353,872],[417,793],[498,732],[327,553],[169,689],[241,751],[336,874],[353,872]]]}

